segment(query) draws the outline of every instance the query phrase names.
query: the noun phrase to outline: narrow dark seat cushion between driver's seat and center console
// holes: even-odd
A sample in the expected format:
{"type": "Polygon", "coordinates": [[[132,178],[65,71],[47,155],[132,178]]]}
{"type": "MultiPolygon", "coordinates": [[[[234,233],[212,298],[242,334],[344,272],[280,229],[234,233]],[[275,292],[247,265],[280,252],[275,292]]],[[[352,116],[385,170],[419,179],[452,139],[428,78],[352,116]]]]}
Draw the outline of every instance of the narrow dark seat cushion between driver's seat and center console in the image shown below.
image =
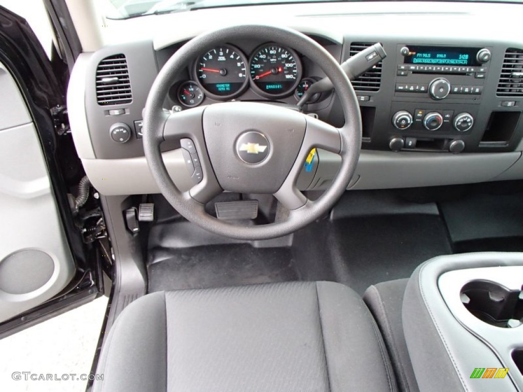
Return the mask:
{"type": "Polygon", "coordinates": [[[397,385],[403,392],[419,391],[403,332],[402,305],[408,279],[397,279],[370,286],[363,295],[378,322],[392,360],[397,385]]]}

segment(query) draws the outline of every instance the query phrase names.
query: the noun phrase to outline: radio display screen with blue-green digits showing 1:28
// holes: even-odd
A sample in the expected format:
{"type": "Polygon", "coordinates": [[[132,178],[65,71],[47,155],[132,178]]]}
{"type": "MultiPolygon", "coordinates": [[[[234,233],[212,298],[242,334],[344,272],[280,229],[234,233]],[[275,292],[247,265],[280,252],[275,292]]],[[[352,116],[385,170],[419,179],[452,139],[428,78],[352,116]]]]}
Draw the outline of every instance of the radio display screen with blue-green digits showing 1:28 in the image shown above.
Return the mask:
{"type": "Polygon", "coordinates": [[[476,60],[477,49],[456,47],[408,46],[405,64],[429,65],[480,65],[476,60]]]}

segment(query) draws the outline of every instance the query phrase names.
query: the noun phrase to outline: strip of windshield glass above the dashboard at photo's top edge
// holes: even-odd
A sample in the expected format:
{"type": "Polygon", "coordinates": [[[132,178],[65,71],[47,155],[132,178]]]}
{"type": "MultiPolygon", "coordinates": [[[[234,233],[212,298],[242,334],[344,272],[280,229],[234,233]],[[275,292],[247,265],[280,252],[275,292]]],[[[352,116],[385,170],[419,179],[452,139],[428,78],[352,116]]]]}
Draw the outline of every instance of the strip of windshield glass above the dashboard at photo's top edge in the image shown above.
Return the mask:
{"type": "MultiPolygon", "coordinates": [[[[333,0],[107,0],[109,19],[127,19],[144,15],[170,14],[199,8],[229,7],[256,4],[318,3],[333,0]]],[[[334,0],[336,1],[336,0],[334,0]]],[[[343,0],[337,0],[343,1],[343,0]]]]}

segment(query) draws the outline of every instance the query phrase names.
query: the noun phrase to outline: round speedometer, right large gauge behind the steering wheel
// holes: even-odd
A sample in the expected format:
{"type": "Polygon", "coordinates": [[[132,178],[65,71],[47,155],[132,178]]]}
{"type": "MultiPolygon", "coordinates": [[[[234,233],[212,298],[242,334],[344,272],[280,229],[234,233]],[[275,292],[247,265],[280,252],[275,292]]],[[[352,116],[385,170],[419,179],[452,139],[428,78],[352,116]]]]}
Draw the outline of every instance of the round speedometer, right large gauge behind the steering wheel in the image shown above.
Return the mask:
{"type": "Polygon", "coordinates": [[[292,94],[301,79],[301,63],[291,49],[268,43],[254,51],[249,63],[253,88],[264,97],[292,94]]]}

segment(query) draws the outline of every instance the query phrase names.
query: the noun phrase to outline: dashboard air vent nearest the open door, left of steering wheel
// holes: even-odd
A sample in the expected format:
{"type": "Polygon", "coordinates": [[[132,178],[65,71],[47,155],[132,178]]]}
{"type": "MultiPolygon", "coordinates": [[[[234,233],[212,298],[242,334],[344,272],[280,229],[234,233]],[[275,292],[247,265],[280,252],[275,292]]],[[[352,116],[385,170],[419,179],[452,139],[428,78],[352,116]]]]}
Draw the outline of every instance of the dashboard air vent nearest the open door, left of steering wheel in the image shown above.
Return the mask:
{"type": "Polygon", "coordinates": [[[132,102],[129,68],[123,54],[106,57],[98,64],[96,98],[100,106],[132,102]]]}

